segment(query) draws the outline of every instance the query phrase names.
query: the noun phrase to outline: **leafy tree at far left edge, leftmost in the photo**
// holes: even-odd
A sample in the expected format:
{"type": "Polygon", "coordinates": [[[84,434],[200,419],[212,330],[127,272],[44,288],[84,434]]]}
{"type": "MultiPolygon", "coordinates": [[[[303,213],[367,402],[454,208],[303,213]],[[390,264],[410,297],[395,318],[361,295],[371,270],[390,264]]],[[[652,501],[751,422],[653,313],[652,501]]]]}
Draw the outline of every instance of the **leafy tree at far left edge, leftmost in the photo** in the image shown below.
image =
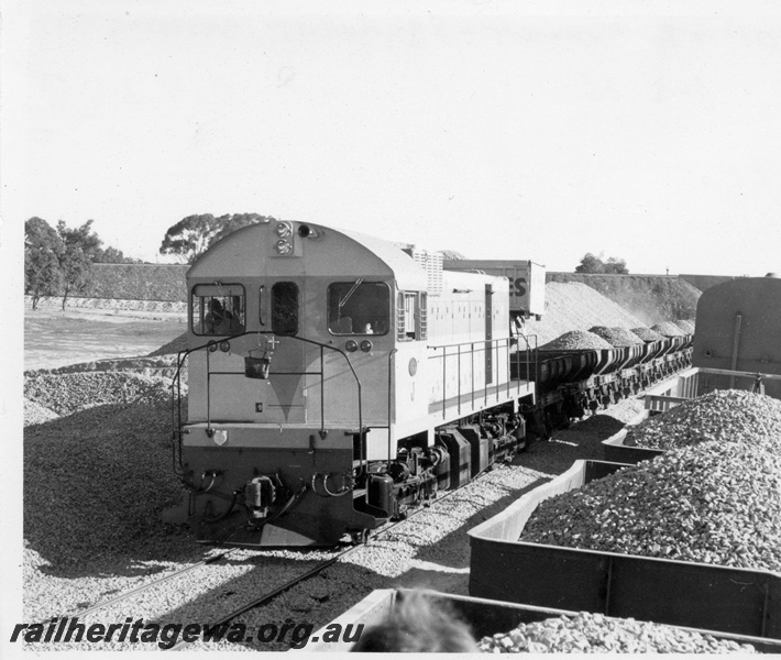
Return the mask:
{"type": "Polygon", "coordinates": [[[43,296],[59,292],[64,251],[59,234],[48,222],[34,217],[24,223],[24,293],[32,297],[33,309],[43,296]]]}

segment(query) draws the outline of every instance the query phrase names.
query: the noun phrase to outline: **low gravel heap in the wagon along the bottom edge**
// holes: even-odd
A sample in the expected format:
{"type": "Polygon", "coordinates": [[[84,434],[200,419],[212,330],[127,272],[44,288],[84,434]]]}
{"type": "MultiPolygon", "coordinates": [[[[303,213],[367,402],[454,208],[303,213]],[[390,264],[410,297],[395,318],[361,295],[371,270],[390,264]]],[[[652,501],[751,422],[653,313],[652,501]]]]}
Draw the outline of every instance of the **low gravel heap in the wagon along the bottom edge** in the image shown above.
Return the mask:
{"type": "Polygon", "coordinates": [[[748,644],[674,626],[580,612],[484,637],[484,653],[755,653],[748,644]]]}

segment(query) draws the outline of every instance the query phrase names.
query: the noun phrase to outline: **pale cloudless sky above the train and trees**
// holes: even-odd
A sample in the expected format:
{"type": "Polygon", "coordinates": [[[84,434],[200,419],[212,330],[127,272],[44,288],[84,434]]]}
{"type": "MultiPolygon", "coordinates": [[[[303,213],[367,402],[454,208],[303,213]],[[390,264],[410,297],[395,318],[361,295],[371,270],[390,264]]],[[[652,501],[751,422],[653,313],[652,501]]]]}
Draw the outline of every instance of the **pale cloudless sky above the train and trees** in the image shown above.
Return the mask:
{"type": "MultiPolygon", "coordinates": [[[[2,2],[2,237],[257,212],[572,271],[781,271],[769,2],[2,2]]],[[[19,257],[16,257],[19,261],[19,257]]]]}

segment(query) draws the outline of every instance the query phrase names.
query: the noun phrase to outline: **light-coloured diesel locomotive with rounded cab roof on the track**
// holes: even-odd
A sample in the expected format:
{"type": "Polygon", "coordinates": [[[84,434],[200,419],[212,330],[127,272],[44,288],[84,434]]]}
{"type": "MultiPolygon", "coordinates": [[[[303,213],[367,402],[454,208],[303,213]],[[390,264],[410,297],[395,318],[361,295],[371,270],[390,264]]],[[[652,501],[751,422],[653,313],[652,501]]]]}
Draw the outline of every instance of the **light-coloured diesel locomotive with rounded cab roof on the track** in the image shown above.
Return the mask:
{"type": "Polygon", "coordinates": [[[535,385],[512,376],[506,277],[272,220],[211,246],[187,287],[174,461],[202,541],[361,541],[524,448],[535,385]]]}

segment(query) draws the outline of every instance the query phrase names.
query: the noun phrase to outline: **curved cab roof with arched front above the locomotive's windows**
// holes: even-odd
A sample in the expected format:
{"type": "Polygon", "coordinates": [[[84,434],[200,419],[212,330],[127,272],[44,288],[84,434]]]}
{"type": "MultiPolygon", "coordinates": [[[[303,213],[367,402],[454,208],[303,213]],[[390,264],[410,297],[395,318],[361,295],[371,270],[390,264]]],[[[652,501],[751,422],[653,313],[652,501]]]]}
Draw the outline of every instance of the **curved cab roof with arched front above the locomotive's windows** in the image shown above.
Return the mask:
{"type": "Polygon", "coordinates": [[[228,234],[201,254],[187,277],[369,276],[395,278],[399,288],[426,290],[426,272],[394,243],[360,232],[307,224],[317,235],[300,238],[301,257],[272,255],[275,222],[251,224],[228,234]],[[260,258],[258,258],[260,257],[260,258]]]}

